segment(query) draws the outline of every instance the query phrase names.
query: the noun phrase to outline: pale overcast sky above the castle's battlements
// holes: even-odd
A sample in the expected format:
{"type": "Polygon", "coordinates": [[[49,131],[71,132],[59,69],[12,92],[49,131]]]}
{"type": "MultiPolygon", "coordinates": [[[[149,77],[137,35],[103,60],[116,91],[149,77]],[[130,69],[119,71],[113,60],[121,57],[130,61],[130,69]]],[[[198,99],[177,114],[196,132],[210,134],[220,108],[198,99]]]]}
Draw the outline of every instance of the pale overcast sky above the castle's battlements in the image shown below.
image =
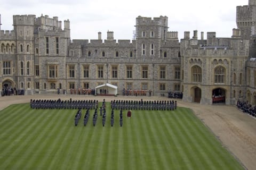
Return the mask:
{"type": "MultiPolygon", "coordinates": [[[[137,16],[168,17],[168,31],[217,32],[217,37],[231,37],[236,27],[236,6],[247,5],[248,0],[5,0],[1,1],[1,30],[13,29],[13,15],[35,14],[37,17],[58,16],[69,19],[71,39],[107,38],[114,31],[115,39],[132,39],[137,16]]],[[[63,28],[63,25],[62,25],[63,28]]]]}

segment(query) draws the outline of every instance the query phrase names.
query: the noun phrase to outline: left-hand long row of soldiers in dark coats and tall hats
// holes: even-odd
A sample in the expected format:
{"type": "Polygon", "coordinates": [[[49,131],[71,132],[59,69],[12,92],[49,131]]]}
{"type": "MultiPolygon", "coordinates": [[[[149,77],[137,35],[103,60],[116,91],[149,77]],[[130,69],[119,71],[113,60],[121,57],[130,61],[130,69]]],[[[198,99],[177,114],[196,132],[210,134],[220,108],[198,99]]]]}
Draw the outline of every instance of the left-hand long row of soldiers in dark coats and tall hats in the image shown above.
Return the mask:
{"type": "Polygon", "coordinates": [[[30,99],[30,108],[33,109],[95,109],[98,100],[33,100],[30,99]]]}

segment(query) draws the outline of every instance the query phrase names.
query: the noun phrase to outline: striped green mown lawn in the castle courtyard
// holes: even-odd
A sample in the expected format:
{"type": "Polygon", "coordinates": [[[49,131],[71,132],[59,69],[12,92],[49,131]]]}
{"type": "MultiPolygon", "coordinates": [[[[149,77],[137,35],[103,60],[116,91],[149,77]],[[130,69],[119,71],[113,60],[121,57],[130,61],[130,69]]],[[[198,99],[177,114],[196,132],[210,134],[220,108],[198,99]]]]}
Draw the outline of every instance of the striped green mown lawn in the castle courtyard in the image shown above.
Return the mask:
{"type": "Polygon", "coordinates": [[[109,103],[105,127],[99,114],[92,125],[93,110],[75,126],[76,112],[0,111],[0,169],[244,169],[188,108],[124,112],[123,127],[119,111],[110,126],[109,103]]]}

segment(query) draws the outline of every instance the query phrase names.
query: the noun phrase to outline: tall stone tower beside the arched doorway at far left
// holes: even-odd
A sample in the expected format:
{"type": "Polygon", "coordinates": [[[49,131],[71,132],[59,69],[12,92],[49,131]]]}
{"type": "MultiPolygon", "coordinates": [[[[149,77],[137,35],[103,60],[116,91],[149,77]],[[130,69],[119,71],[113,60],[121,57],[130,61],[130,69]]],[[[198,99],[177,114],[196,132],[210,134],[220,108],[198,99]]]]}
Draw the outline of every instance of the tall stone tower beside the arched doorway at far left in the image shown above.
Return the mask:
{"type": "Polygon", "coordinates": [[[13,15],[16,32],[18,89],[34,94],[34,20],[35,15],[13,15]]]}

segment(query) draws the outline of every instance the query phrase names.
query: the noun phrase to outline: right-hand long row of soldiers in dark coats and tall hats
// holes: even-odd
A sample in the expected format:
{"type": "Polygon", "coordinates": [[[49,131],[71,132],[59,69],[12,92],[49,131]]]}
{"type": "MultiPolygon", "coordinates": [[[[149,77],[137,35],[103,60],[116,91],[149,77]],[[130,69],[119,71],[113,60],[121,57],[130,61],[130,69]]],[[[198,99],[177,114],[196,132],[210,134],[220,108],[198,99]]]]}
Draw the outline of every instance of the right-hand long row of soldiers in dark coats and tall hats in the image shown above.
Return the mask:
{"type": "Polygon", "coordinates": [[[154,110],[154,111],[174,111],[177,109],[177,101],[140,101],[138,100],[113,100],[111,109],[123,110],[154,110]]]}

